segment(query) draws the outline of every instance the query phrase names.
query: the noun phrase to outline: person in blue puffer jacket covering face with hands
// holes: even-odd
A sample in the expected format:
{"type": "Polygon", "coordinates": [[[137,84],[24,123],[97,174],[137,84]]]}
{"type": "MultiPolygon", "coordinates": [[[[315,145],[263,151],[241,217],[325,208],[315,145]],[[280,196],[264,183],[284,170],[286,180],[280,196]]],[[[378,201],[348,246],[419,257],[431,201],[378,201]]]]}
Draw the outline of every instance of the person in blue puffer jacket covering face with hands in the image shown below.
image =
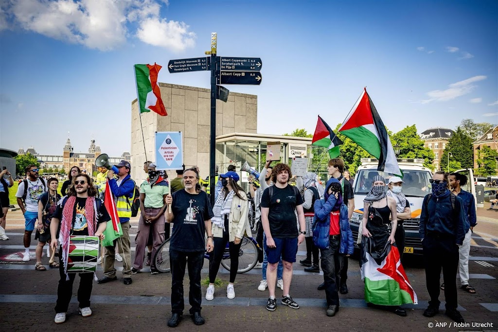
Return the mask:
{"type": "Polygon", "coordinates": [[[325,200],[315,202],[313,242],[320,248],[322,270],[327,298],[327,316],[339,311],[341,268],[344,255],[353,254],[353,233],[348,220],[348,207],[344,204],[341,183],[337,179],[327,181],[325,200]]]}

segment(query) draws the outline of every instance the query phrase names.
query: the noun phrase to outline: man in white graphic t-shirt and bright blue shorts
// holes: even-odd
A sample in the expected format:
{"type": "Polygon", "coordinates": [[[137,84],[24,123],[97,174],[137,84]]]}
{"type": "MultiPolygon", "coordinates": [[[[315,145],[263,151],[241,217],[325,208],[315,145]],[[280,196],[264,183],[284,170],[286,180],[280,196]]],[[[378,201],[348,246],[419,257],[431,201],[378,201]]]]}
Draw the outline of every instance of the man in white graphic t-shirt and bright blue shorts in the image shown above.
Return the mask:
{"type": "Polygon", "coordinates": [[[48,190],[48,186],[45,180],[39,177],[38,166],[29,165],[25,171],[28,177],[19,183],[15,197],[17,198],[17,205],[24,215],[24,254],[22,260],[27,262],[29,261],[31,233],[34,229],[34,222],[38,219],[38,199],[41,194],[48,190]],[[25,207],[24,204],[26,204],[25,207]]]}

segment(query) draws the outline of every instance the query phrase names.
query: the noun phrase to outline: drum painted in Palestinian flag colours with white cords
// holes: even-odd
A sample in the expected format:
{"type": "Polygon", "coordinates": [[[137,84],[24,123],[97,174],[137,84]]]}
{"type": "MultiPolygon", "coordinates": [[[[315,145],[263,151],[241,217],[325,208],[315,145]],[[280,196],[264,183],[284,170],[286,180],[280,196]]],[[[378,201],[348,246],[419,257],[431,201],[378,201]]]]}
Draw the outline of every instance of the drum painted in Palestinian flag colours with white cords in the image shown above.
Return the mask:
{"type": "Polygon", "coordinates": [[[69,239],[68,273],[95,272],[99,257],[98,236],[72,235],[69,239]]]}

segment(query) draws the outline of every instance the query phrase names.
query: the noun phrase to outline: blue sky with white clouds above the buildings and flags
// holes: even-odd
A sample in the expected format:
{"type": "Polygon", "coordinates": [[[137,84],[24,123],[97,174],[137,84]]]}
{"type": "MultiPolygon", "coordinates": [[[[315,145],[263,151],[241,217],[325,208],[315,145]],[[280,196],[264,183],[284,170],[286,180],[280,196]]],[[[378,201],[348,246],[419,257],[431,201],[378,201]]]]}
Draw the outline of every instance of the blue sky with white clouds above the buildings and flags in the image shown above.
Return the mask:
{"type": "MultiPolygon", "coordinates": [[[[497,1],[0,1],[0,147],[130,150],[133,64],[260,57],[258,132],[332,127],[367,87],[386,126],[498,123],[497,1]]],[[[209,88],[209,72],[159,81],[209,88]]]]}

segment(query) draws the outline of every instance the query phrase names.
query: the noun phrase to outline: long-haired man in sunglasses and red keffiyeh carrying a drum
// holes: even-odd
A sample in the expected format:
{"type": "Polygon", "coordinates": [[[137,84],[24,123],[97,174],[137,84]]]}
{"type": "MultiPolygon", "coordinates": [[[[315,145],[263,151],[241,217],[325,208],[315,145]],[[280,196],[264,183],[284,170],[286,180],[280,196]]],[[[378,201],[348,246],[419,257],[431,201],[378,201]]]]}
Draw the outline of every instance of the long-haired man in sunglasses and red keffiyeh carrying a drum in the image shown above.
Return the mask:
{"type": "MultiPolygon", "coordinates": [[[[55,323],[66,321],[66,312],[73,293],[73,282],[76,273],[67,273],[68,250],[70,235],[90,235],[104,239],[107,221],[111,220],[102,201],[95,198],[97,189],[92,185],[86,174],[79,174],[69,186],[67,198],[55,209],[50,222],[52,250],[57,246],[57,229],[60,223],[59,248],[59,286],[57,288],[57,304],[55,306],[55,323]]],[[[92,281],[94,273],[80,273],[80,287],[78,288],[78,302],[81,315],[92,315],[90,296],[92,295],[92,281]]]]}

